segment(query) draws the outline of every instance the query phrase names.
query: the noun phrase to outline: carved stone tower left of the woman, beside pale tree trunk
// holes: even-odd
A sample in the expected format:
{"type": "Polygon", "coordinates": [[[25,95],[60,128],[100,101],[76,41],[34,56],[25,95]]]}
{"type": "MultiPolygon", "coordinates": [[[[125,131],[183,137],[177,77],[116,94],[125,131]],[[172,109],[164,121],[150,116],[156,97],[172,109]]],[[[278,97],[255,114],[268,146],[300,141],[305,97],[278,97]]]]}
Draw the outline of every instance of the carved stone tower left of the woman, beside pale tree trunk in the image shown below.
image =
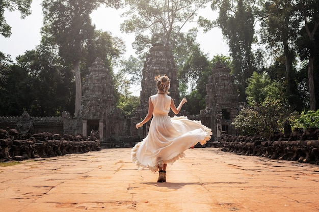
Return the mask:
{"type": "Polygon", "coordinates": [[[97,57],[89,68],[89,75],[83,85],[81,117],[83,135],[88,136],[92,130],[99,131],[104,137],[105,120],[114,110],[115,97],[112,78],[103,61],[97,57]]]}

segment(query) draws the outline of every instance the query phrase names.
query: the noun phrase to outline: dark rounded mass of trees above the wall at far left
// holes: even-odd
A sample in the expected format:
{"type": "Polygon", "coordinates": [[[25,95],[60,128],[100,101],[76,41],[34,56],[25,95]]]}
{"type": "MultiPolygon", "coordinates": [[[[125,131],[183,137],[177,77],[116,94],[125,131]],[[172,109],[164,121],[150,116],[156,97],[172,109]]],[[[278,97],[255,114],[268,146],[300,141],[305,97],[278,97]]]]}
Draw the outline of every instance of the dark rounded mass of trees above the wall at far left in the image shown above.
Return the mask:
{"type": "Polygon", "coordinates": [[[54,49],[39,45],[17,57],[6,73],[7,82],[0,90],[0,115],[56,116],[74,111],[74,82],[71,68],[54,49]]]}

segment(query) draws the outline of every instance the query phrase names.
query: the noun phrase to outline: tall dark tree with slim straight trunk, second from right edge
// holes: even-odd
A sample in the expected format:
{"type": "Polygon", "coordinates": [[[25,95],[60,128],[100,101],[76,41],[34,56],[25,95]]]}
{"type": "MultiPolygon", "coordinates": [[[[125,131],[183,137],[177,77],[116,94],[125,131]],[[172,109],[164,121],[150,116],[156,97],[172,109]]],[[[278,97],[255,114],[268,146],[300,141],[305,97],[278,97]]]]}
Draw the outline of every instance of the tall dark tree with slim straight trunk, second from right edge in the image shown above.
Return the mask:
{"type": "Polygon", "coordinates": [[[290,105],[296,103],[297,84],[294,80],[295,44],[300,27],[295,1],[267,0],[261,1],[260,36],[273,55],[285,56],[286,97],[290,105]]]}

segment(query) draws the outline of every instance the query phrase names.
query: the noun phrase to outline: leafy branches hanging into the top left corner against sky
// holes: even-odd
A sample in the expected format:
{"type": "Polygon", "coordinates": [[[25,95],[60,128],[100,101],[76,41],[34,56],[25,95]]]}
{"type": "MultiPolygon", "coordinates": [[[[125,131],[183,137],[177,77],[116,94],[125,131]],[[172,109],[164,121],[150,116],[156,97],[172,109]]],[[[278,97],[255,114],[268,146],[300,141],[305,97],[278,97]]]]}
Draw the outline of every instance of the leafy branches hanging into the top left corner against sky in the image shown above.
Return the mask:
{"type": "Polygon", "coordinates": [[[24,19],[26,16],[31,14],[31,3],[32,0],[1,0],[0,1],[0,34],[5,38],[11,36],[11,26],[7,23],[4,12],[7,9],[12,12],[18,10],[21,14],[21,18],[24,19]]]}

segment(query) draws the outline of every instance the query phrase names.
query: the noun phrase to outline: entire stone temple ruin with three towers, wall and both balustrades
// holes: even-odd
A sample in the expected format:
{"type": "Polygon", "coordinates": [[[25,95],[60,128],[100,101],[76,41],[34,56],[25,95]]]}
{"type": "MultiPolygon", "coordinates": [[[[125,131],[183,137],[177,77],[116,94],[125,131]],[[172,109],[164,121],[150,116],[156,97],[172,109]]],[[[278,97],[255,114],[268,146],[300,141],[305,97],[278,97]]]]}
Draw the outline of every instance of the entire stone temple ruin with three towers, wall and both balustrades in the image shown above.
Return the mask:
{"type": "MultiPolygon", "coordinates": [[[[180,112],[190,119],[201,120],[212,129],[212,139],[206,146],[220,147],[223,151],[240,155],[318,164],[318,129],[291,132],[290,128],[285,133],[273,133],[269,139],[236,136],[231,123],[238,113],[239,104],[237,89],[229,73],[230,69],[225,65],[216,65],[206,85],[206,108],[200,114],[180,112]]],[[[66,111],[58,117],[31,117],[26,112],[20,117],[0,117],[0,160],[54,157],[134,146],[147,135],[149,123],[142,130],[136,130],[135,124],[147,114],[148,98],[157,92],[153,79],[158,74],[169,76],[172,82],[170,96],[175,102],[179,101],[179,82],[172,52],[168,47],[156,44],[150,49],[144,64],[140,107],[131,116],[125,116],[115,107],[111,75],[103,67],[102,60],[97,58],[86,76],[78,117],[71,117],[66,111]]]]}

